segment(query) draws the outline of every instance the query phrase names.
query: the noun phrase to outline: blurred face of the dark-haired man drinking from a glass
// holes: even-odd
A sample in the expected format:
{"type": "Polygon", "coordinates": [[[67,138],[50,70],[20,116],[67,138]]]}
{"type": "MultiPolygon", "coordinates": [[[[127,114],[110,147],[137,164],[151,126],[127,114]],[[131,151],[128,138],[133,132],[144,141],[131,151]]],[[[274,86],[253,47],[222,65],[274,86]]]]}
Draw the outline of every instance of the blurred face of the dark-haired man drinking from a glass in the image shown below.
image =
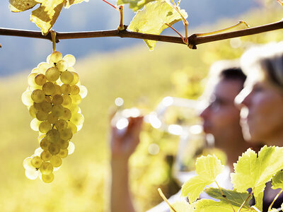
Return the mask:
{"type": "Polygon", "coordinates": [[[239,80],[222,79],[214,86],[209,105],[202,111],[203,128],[206,134],[212,134],[217,148],[225,148],[230,139],[243,138],[241,132],[240,111],[234,105],[234,98],[242,88],[239,80]]]}

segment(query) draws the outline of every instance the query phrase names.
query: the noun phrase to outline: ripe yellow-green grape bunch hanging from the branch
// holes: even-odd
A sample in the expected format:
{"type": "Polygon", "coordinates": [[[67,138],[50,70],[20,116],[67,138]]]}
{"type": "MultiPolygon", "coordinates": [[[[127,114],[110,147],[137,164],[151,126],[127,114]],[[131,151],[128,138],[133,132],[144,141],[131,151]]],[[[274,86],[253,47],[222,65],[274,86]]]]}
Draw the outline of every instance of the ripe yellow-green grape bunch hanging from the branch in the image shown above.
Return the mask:
{"type": "Polygon", "coordinates": [[[62,158],[74,152],[72,136],[81,129],[84,117],[78,107],[86,97],[73,66],[76,59],[67,54],[62,57],[54,51],[33,69],[28,76],[28,88],[22,95],[33,120],[30,127],[39,131],[40,148],[23,161],[25,176],[40,177],[49,183],[53,172],[62,165],[62,158]]]}

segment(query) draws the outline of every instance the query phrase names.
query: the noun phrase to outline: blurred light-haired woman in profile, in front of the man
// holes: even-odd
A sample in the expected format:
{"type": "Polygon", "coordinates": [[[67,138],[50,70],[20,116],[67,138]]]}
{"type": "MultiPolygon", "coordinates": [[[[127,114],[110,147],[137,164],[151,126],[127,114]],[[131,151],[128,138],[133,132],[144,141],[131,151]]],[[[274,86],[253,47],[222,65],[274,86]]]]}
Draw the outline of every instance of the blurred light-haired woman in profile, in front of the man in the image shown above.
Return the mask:
{"type": "MultiPolygon", "coordinates": [[[[247,75],[245,87],[235,99],[241,109],[241,126],[246,141],[283,146],[283,42],[254,47],[241,58],[247,75]]],[[[263,211],[279,190],[267,183],[263,211]]],[[[282,194],[274,208],[283,202],[282,194]]]]}

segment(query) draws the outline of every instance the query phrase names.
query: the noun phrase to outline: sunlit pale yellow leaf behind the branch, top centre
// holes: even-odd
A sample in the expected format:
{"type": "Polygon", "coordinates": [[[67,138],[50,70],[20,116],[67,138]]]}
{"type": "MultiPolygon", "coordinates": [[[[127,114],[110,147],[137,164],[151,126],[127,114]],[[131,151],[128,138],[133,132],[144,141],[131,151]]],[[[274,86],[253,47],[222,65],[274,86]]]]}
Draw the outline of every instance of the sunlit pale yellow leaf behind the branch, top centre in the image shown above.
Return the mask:
{"type": "MultiPolygon", "coordinates": [[[[187,18],[185,10],[181,10],[180,12],[187,18]]],[[[160,35],[163,30],[168,28],[168,25],[173,25],[180,20],[182,20],[180,14],[167,4],[166,1],[155,1],[146,4],[141,11],[137,12],[129,24],[128,30],[160,35]]],[[[144,40],[144,42],[146,42],[146,45],[151,50],[156,45],[155,40],[144,40]]]]}

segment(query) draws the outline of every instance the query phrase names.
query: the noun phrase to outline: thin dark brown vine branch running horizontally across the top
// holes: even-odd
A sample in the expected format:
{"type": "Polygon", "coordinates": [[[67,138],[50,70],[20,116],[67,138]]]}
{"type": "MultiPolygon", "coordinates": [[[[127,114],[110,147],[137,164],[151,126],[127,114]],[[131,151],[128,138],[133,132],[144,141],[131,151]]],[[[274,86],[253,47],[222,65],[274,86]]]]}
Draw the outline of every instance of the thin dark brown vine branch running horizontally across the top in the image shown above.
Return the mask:
{"type": "MultiPolygon", "coordinates": [[[[216,35],[207,35],[207,36],[197,36],[197,34],[192,34],[190,35],[190,37],[188,37],[188,46],[191,47],[192,49],[196,49],[197,45],[207,42],[226,40],[233,37],[243,37],[246,35],[255,35],[258,33],[265,33],[268,31],[279,30],[282,28],[283,28],[283,20],[280,20],[275,23],[260,25],[257,27],[247,28],[243,30],[236,30],[229,33],[220,33],[216,35]]],[[[34,38],[41,38],[52,41],[51,33],[48,33],[46,36],[44,36],[40,31],[0,28],[0,35],[34,37],[34,38]]],[[[127,30],[127,25],[125,25],[125,30],[105,30],[105,31],[89,31],[89,32],[70,32],[70,33],[56,32],[56,39],[57,39],[56,42],[59,42],[59,40],[63,40],[63,39],[88,38],[88,37],[130,37],[137,39],[156,40],[161,42],[173,42],[173,43],[185,44],[181,37],[130,32],[127,30]]]]}

